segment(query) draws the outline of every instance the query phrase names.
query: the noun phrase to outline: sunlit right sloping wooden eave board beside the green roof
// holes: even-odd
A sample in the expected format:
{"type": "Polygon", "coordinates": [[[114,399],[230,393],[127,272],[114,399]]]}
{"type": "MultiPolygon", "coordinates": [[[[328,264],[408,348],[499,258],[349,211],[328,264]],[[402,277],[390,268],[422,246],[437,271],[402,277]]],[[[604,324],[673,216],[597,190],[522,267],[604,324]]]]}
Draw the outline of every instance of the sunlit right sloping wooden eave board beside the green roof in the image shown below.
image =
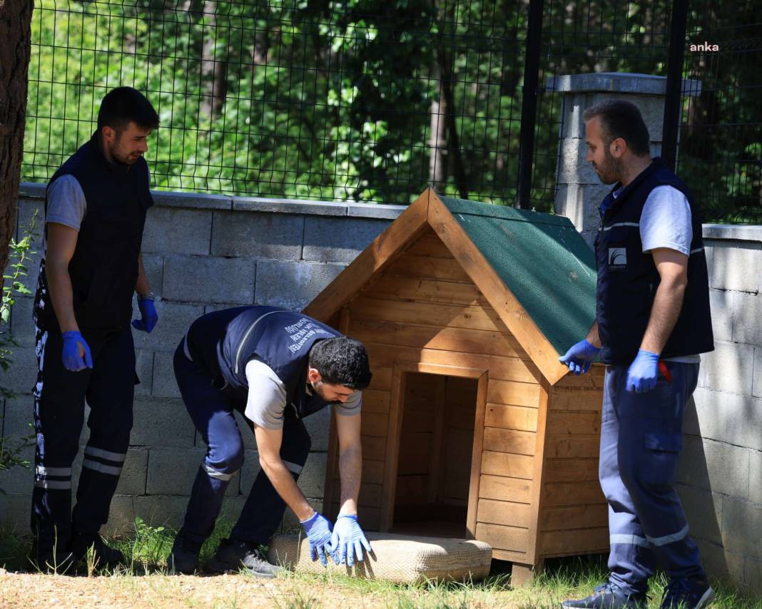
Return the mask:
{"type": "Polygon", "coordinates": [[[427,224],[447,245],[546,381],[554,385],[561,380],[568,373],[568,368],[559,362],[559,353],[433,191],[427,219],[427,224]]]}

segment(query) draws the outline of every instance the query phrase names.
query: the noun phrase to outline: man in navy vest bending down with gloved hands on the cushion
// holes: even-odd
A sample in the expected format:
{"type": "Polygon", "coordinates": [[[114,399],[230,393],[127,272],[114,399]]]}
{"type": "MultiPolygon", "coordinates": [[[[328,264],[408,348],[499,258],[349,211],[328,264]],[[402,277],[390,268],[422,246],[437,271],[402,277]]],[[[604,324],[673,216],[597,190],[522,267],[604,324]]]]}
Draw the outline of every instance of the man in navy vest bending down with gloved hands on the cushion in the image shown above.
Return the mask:
{"type": "Polygon", "coordinates": [[[244,447],[233,411],[255,434],[259,471],[238,523],[210,568],[248,569],[273,577],[262,546],[270,542],[288,505],[303,526],[312,560],[354,564],[370,551],[357,522],[362,449],[361,390],[370,383],[361,343],[306,315],[254,306],[197,319],[174,353],[174,375],[188,413],[207,444],[185,520],[168,566],[192,573],[219,515],[225,489],[241,469],[244,447]],[[296,485],[311,445],[303,419],[333,406],[339,445],[341,505],[335,526],[315,512],[296,485]]]}

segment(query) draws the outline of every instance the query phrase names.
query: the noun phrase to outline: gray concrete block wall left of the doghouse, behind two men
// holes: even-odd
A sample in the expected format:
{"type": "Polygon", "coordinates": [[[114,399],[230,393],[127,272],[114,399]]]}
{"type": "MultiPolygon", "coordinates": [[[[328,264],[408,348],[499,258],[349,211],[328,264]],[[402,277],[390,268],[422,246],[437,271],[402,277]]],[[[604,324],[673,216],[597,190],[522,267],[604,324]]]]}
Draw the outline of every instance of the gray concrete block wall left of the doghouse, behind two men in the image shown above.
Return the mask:
{"type": "MultiPolygon", "coordinates": [[[[43,215],[44,187],[24,184],[18,225],[43,215]]],[[[133,330],[140,384],[135,423],[107,528],[130,531],[136,515],[156,525],[181,524],[187,496],[206,450],[180,398],[172,355],[187,327],[200,315],[241,304],[303,308],[404,209],[401,206],[294,202],[181,193],[154,193],[143,239],[143,262],[157,297],[158,325],[152,333],[133,330]]],[[[34,249],[43,250],[38,229],[34,249]]],[[[27,285],[37,285],[39,254],[27,285]]],[[[29,435],[31,390],[37,381],[31,298],[11,314],[11,331],[21,343],[2,384],[18,392],[2,403],[2,435],[29,435]]],[[[137,311],[133,306],[133,311],[137,311]]],[[[259,471],[253,433],[239,416],[246,455],[229,486],[223,513],[237,518],[259,471]]],[[[306,497],[322,507],[328,425],[326,410],[306,419],[312,453],[299,478],[306,497]]],[[[83,429],[80,445],[87,441],[83,429]]],[[[34,462],[34,447],[24,451],[34,462]]],[[[74,464],[75,479],[82,451],[74,464]]],[[[16,467],[0,473],[0,521],[26,534],[33,473],[16,467]]],[[[75,486],[76,487],[76,486],[75,486]]],[[[293,527],[290,511],[284,526],[293,527]]]]}

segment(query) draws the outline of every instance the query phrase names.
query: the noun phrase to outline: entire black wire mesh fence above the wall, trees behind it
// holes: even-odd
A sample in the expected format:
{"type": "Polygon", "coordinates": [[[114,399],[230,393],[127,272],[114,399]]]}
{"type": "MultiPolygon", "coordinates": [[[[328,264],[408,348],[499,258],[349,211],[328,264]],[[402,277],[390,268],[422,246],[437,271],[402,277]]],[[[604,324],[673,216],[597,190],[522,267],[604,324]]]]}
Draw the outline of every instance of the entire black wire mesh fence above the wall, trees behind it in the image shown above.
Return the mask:
{"type": "MultiPolygon", "coordinates": [[[[707,220],[759,221],[754,2],[690,5],[690,41],[721,49],[686,53],[703,91],[684,100],[677,171],[707,220]]],[[[552,209],[559,155],[547,76],[665,75],[670,12],[546,0],[536,209],[552,209]]],[[[527,21],[520,0],[39,0],[22,179],[47,180],[130,84],[162,121],[146,155],[160,189],[404,204],[434,185],[514,205],[527,21]]]]}

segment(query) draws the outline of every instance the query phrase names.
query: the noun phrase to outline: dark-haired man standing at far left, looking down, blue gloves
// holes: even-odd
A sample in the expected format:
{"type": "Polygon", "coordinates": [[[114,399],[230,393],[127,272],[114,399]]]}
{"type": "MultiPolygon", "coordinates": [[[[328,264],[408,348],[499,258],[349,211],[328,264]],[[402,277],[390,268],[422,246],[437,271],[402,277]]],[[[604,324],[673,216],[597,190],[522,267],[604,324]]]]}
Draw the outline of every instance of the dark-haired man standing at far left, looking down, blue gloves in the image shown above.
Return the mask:
{"type": "Polygon", "coordinates": [[[90,548],[100,566],[123,560],[98,531],[130,443],[135,349],[133,292],[150,332],[157,314],[140,245],[153,204],[142,155],[158,116],[129,87],[110,91],[98,130],[69,158],[47,188],[45,256],[34,299],[37,433],[31,526],[33,557],[43,570],[65,571],[90,548]],[[72,461],[85,416],[90,436],[72,512],[72,461]]]}

